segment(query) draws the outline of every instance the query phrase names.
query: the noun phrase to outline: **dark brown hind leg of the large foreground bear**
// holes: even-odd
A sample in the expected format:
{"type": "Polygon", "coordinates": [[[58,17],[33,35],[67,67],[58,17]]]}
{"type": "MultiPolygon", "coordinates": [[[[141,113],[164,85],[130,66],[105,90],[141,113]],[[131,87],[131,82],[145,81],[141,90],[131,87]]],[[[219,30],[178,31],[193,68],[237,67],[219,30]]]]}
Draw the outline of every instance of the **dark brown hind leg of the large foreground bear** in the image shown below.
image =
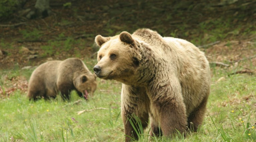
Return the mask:
{"type": "Polygon", "coordinates": [[[188,117],[188,128],[192,132],[196,132],[198,126],[202,124],[204,120],[207,99],[208,97],[205,97],[202,103],[193,112],[191,112],[188,117]]]}

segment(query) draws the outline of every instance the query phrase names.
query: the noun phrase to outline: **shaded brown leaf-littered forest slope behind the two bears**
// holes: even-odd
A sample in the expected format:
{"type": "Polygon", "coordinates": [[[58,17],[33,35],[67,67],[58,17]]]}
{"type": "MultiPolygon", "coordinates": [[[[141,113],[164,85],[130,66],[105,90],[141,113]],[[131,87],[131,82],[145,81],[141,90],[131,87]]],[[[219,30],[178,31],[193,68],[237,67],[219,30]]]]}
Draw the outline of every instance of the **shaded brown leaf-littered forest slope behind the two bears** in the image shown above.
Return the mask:
{"type": "MultiPolygon", "coordinates": [[[[211,64],[224,63],[224,68],[237,73],[255,72],[256,2],[252,0],[231,3],[53,0],[50,16],[24,18],[26,9],[34,4],[28,0],[22,10],[0,23],[0,70],[30,68],[68,57],[95,59],[96,35],[113,36],[122,31],[133,33],[138,28],[150,28],[162,36],[194,43],[211,64]],[[248,64],[236,69],[241,60],[248,60],[248,64]]],[[[27,84],[23,77],[2,78],[13,80],[12,86],[27,84]]]]}

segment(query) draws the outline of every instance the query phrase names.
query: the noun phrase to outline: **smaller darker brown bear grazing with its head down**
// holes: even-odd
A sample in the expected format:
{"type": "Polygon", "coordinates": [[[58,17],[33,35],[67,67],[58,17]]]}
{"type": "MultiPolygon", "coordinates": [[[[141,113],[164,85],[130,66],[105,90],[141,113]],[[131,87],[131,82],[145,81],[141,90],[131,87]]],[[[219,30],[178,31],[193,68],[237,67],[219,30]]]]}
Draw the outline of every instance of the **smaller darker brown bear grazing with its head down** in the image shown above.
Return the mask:
{"type": "Polygon", "coordinates": [[[96,90],[96,76],[92,74],[82,60],[68,58],[63,61],[48,61],[38,66],[28,83],[29,100],[55,98],[58,93],[63,99],[69,99],[75,90],[86,100],[96,90]]]}

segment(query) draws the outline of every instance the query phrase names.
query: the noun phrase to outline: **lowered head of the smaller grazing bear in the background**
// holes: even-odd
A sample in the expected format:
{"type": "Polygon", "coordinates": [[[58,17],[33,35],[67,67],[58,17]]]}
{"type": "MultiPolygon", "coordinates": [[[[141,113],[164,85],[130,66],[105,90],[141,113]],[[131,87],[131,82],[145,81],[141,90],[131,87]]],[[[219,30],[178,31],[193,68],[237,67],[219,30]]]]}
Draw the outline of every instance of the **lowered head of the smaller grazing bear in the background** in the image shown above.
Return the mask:
{"type": "Polygon", "coordinates": [[[73,79],[75,88],[83,94],[83,97],[87,100],[93,96],[94,91],[97,88],[95,74],[77,74],[73,79]]]}

